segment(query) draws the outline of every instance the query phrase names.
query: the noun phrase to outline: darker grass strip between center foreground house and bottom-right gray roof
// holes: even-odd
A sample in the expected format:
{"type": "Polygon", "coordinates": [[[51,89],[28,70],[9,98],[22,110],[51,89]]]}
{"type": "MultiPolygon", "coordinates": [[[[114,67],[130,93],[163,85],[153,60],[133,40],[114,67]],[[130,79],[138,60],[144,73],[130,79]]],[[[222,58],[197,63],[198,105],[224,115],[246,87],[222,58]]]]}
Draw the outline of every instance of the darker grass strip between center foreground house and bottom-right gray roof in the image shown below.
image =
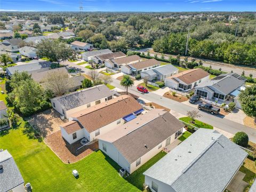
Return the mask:
{"type": "Polygon", "coordinates": [[[140,190],[143,190],[143,183],[145,181],[145,176],[143,175],[143,172],[149,169],[152,165],[154,165],[156,162],[158,162],[161,158],[163,158],[166,155],[165,152],[161,151],[157,155],[155,155],[153,158],[151,158],[147,163],[142,165],[138,170],[134,171],[129,177],[126,178],[128,182],[130,182],[132,185],[137,187],[140,190]]]}

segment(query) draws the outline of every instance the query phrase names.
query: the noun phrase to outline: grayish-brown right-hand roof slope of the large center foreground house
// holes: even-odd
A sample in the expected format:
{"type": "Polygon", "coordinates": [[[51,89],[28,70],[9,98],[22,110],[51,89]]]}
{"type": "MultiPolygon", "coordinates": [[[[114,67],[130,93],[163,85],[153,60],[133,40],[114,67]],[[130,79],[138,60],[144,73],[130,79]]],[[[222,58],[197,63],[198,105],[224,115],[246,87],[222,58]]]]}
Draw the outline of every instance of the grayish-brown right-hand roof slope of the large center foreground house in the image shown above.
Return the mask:
{"type": "Polygon", "coordinates": [[[113,144],[129,163],[133,163],[182,127],[184,125],[177,118],[166,112],[113,144]]]}

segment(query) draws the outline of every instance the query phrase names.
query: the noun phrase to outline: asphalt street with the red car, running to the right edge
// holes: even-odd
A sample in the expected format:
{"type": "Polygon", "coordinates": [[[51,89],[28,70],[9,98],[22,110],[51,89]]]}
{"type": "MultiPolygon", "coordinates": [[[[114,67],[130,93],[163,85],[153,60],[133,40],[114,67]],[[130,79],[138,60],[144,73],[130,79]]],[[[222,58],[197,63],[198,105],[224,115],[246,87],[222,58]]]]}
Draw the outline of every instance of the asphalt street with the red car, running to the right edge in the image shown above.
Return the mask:
{"type": "MultiPolygon", "coordinates": [[[[124,87],[121,86],[119,83],[120,82],[117,79],[113,79],[113,83],[111,83],[111,85],[114,85],[115,87],[118,87],[119,89],[124,90],[124,87]]],[[[138,95],[143,99],[147,99],[151,102],[157,103],[158,105],[169,108],[173,111],[177,111],[178,113],[183,115],[186,115],[187,111],[198,110],[194,107],[185,105],[183,103],[161,97],[160,95],[155,93],[149,92],[146,94],[142,94],[137,91],[135,86],[132,86],[131,88],[129,88],[129,92],[132,94],[138,95]]],[[[211,124],[214,127],[217,127],[223,131],[227,131],[232,134],[235,134],[236,132],[239,132],[239,131],[244,131],[248,134],[250,141],[256,142],[256,130],[252,129],[251,127],[247,127],[245,125],[230,121],[229,119],[224,119],[223,116],[221,115],[211,115],[204,111],[199,111],[199,114],[201,115],[201,117],[199,117],[198,119],[202,122],[211,124]]]]}

